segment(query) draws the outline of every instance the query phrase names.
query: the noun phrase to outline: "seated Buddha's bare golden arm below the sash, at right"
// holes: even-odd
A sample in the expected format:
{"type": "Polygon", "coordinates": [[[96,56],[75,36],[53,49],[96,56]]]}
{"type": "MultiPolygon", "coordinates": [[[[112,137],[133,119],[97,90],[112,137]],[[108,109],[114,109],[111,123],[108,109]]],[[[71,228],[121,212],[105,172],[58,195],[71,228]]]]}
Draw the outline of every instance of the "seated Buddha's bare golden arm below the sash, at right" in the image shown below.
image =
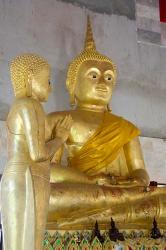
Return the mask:
{"type": "Polygon", "coordinates": [[[143,154],[138,137],[132,139],[124,146],[124,153],[131,177],[131,179],[129,179],[128,185],[130,186],[148,185],[149,176],[145,169],[143,154]]]}

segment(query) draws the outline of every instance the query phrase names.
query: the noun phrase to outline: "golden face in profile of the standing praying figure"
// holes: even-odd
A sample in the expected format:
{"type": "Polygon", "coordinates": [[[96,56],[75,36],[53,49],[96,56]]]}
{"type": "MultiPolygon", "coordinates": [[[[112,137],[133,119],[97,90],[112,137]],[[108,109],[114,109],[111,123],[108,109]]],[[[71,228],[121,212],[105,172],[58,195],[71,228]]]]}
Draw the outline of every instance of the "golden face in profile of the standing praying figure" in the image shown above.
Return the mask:
{"type": "Polygon", "coordinates": [[[31,76],[32,97],[45,102],[51,92],[50,69],[44,67],[37,74],[31,76]]]}

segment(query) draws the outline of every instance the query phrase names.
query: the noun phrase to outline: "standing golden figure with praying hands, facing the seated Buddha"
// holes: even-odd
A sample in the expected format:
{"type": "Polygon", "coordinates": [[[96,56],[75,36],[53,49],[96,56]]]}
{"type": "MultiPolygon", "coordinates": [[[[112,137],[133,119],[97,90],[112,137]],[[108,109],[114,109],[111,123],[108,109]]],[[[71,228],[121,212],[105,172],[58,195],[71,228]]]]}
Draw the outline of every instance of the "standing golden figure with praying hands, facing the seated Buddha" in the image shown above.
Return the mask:
{"type": "Polygon", "coordinates": [[[56,137],[45,143],[45,113],[50,66],[35,54],[10,65],[16,100],[8,118],[8,164],[1,182],[5,250],[42,249],[50,196],[50,159],[69,134],[71,117],[58,122],[56,137]]]}

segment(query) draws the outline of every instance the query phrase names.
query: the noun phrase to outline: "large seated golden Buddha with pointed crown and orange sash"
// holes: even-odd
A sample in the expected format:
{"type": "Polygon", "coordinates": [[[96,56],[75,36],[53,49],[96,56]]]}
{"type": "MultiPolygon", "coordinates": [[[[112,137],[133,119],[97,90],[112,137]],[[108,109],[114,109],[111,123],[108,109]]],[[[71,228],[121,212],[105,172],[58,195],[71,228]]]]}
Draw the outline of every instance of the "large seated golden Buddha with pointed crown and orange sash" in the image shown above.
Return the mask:
{"type": "Polygon", "coordinates": [[[47,116],[50,136],[59,119],[73,119],[52,161],[48,228],[92,229],[97,220],[106,229],[111,217],[120,228],[149,227],[154,216],[166,222],[166,189],[147,188],[139,129],[108,108],[115,83],[116,67],[96,50],[88,19],[85,48],[67,75],[74,109],[47,116]]]}

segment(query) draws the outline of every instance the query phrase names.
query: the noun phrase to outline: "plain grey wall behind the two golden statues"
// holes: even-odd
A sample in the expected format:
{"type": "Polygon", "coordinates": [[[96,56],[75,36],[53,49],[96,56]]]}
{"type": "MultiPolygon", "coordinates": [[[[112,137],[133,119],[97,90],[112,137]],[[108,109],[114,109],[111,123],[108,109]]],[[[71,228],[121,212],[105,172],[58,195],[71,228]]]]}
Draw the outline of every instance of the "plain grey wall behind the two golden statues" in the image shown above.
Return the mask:
{"type": "MultiPolygon", "coordinates": [[[[138,0],[137,7],[147,7],[151,2],[138,0]]],[[[144,15],[149,17],[152,9],[145,9],[144,15]]],[[[136,10],[135,0],[0,0],[0,120],[6,119],[14,99],[8,64],[22,52],[39,53],[52,66],[53,93],[46,111],[69,108],[67,66],[83,48],[86,16],[90,14],[98,50],[118,67],[112,110],[139,126],[142,136],[149,137],[142,143],[152,175],[164,171],[165,142],[153,138],[166,138],[166,47],[154,43],[151,33],[148,41],[138,39],[136,10]]],[[[148,25],[153,27],[153,21],[148,20],[148,25]]],[[[160,25],[157,29],[159,33],[160,25]]],[[[4,125],[2,135],[3,129],[4,125]]],[[[2,144],[5,140],[1,138],[2,144]]],[[[1,163],[5,155],[3,147],[1,163]]],[[[163,174],[157,178],[166,180],[163,174]]]]}

